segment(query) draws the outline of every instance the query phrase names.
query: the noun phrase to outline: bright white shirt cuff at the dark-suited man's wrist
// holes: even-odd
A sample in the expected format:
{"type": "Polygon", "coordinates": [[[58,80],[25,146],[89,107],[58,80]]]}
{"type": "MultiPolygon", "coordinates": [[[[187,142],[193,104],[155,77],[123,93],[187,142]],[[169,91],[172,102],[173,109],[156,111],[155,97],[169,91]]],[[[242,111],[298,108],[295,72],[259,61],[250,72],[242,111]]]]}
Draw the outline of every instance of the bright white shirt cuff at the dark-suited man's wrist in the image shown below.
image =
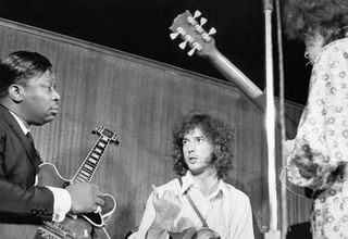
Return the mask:
{"type": "Polygon", "coordinates": [[[47,188],[52,191],[54,198],[52,221],[60,223],[72,207],[71,196],[66,189],[48,186],[47,188]]]}

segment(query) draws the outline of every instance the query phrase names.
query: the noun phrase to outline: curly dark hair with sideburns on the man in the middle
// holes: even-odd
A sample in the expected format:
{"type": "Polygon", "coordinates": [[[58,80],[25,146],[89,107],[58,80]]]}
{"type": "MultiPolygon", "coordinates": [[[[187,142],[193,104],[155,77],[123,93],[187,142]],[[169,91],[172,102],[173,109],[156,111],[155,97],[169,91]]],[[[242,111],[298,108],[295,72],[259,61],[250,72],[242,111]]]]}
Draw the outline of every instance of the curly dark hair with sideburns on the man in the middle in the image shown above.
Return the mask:
{"type": "Polygon", "coordinates": [[[192,112],[182,117],[173,130],[173,160],[174,172],[184,176],[188,171],[183,153],[185,134],[199,127],[214,148],[212,162],[215,165],[217,177],[225,177],[233,168],[234,129],[223,121],[206,113],[192,112]]]}

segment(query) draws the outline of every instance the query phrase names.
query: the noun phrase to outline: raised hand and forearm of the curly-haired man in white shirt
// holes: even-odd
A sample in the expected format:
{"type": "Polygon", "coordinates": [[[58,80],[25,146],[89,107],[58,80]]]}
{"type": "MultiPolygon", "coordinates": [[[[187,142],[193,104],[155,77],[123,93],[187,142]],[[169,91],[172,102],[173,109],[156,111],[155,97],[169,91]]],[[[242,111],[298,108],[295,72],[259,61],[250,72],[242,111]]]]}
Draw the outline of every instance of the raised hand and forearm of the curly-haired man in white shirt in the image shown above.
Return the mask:
{"type": "Polygon", "coordinates": [[[158,188],[154,186],[152,188],[152,204],[156,216],[146,238],[167,238],[167,229],[182,210],[182,202],[173,191],[165,190],[160,197],[158,188]]]}

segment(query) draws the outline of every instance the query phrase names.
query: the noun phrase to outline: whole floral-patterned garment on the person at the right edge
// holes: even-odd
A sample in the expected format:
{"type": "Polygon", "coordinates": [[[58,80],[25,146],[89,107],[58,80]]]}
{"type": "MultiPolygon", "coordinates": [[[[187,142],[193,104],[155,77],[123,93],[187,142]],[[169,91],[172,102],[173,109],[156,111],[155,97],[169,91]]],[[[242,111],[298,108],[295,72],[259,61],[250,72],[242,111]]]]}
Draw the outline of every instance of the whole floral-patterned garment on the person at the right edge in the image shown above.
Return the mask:
{"type": "Polygon", "coordinates": [[[293,184],[323,190],[313,199],[315,239],[348,239],[348,38],[325,46],[312,70],[308,102],[287,158],[293,184]],[[343,167],[345,168],[345,167],[343,167]]]}

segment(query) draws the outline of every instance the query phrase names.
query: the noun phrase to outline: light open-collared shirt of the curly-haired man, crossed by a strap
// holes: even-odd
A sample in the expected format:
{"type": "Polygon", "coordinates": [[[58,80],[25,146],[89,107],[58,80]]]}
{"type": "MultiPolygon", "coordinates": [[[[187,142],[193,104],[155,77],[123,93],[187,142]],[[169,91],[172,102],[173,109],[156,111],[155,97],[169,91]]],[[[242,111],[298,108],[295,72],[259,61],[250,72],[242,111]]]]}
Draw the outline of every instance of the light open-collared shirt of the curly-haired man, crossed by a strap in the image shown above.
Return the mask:
{"type": "MultiPolygon", "coordinates": [[[[181,232],[189,227],[202,227],[198,215],[189,204],[184,192],[189,190],[189,196],[206,219],[210,229],[221,236],[221,239],[253,239],[251,205],[248,196],[232,185],[219,181],[217,189],[209,197],[204,197],[194,184],[191,174],[188,172],[183,177],[183,187],[178,179],[158,188],[160,197],[165,190],[175,192],[182,201],[182,209],[173,221],[170,231],[181,232]]],[[[144,239],[151,226],[156,212],[152,204],[153,192],[150,194],[139,229],[130,238],[144,239]]]]}

